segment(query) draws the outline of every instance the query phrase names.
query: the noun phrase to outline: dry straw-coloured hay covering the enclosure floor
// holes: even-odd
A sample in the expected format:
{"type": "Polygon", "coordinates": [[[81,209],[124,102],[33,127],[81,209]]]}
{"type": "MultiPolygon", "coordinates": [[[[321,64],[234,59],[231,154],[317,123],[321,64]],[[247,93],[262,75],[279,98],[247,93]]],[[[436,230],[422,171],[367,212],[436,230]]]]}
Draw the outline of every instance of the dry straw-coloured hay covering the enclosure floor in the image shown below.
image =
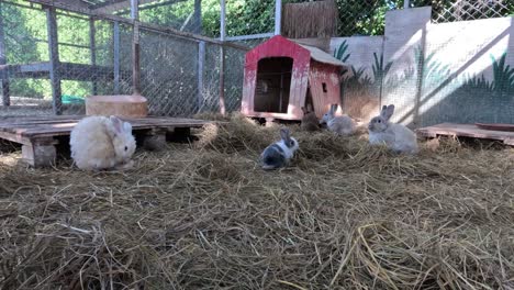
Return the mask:
{"type": "Polygon", "coordinates": [[[514,153],[416,157],[234,116],[127,172],[0,165],[1,289],[513,289],[514,153]],[[139,288],[138,288],[139,287],[139,288]]]}

